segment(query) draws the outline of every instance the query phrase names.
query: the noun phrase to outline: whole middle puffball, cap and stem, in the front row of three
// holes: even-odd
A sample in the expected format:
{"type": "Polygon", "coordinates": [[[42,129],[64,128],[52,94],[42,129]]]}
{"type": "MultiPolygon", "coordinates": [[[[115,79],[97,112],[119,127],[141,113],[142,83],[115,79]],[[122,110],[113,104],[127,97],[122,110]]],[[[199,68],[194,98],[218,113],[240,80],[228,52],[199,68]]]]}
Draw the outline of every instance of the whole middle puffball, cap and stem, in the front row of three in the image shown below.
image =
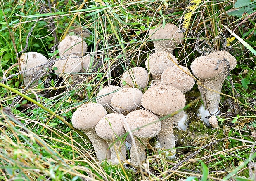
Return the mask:
{"type": "Polygon", "coordinates": [[[118,163],[118,157],[120,160],[126,160],[125,141],[120,138],[126,133],[123,126],[125,118],[126,116],[119,113],[107,114],[101,118],[95,128],[96,134],[109,145],[111,162],[114,163],[118,163]]]}

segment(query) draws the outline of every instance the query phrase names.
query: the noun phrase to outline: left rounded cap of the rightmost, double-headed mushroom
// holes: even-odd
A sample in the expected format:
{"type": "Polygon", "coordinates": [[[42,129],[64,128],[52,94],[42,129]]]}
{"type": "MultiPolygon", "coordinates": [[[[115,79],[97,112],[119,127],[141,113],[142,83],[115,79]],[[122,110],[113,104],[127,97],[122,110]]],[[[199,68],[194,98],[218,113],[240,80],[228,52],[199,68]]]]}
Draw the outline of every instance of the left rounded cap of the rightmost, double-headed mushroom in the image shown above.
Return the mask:
{"type": "Polygon", "coordinates": [[[209,58],[208,56],[200,56],[194,59],[191,64],[191,71],[200,79],[213,79],[223,74],[223,66],[216,69],[218,58],[209,58]]]}

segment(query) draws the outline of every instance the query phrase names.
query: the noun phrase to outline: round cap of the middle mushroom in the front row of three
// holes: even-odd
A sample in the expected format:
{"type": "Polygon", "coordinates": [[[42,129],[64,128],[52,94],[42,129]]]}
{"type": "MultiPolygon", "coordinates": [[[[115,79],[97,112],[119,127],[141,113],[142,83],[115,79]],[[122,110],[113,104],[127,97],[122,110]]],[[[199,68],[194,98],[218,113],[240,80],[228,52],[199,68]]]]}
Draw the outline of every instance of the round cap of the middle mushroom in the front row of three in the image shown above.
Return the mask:
{"type": "Polygon", "coordinates": [[[123,127],[123,121],[126,118],[123,114],[107,114],[97,123],[95,131],[102,139],[112,140],[113,137],[121,137],[126,133],[123,127]]]}

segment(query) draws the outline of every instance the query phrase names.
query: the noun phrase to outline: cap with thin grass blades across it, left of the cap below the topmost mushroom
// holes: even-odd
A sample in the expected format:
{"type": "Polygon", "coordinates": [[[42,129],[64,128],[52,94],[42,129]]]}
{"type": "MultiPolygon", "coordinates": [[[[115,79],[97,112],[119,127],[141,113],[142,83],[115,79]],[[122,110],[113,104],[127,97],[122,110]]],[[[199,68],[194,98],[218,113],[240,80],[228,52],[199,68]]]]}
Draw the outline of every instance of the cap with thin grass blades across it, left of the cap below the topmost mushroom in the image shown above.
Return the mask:
{"type": "Polygon", "coordinates": [[[123,88],[135,87],[143,90],[147,86],[148,81],[149,73],[145,68],[133,67],[123,73],[120,85],[123,88]],[[126,83],[125,85],[124,82],[126,83]]]}

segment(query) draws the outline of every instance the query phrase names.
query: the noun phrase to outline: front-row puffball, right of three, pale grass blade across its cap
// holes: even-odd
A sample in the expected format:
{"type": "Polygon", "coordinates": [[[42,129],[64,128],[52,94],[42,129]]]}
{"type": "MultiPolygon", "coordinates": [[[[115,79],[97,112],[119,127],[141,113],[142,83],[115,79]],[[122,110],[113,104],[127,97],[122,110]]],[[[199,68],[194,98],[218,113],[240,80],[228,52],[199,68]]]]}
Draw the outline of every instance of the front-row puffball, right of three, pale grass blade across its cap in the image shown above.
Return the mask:
{"type": "Polygon", "coordinates": [[[149,139],[156,136],[161,129],[161,122],[157,121],[158,119],[156,115],[143,109],[130,112],[126,116],[124,128],[127,132],[132,131],[131,134],[135,138],[135,144],[133,143],[130,149],[130,163],[133,166],[139,167],[146,159],[145,148],[149,139]]]}

